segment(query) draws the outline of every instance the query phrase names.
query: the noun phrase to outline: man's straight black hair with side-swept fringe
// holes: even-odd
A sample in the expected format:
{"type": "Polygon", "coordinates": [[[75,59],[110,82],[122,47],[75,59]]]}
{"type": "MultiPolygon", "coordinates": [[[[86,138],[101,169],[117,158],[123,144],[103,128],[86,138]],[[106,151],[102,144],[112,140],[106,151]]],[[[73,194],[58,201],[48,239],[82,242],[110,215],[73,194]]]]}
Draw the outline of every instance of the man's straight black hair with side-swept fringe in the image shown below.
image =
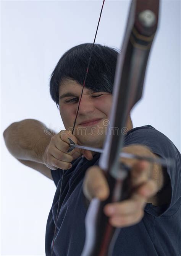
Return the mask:
{"type": "MultiPolygon", "coordinates": [[[[63,79],[83,85],[92,44],[79,44],[69,49],[58,61],[50,79],[50,95],[59,106],[59,86],[63,79]]],[[[95,44],[85,86],[95,92],[112,93],[118,50],[95,44]]]]}

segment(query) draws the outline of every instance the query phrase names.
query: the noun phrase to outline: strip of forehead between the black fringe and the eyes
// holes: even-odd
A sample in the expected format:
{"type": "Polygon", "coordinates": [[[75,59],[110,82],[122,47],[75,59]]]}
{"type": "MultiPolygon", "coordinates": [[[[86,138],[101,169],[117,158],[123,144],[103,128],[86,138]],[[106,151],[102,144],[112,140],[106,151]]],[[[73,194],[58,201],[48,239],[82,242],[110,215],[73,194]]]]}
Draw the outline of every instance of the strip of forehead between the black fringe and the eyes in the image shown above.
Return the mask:
{"type": "MultiPolygon", "coordinates": [[[[71,80],[71,79],[63,79],[63,81],[61,82],[60,86],[59,86],[59,95],[61,95],[62,93],[66,93],[66,92],[78,92],[82,90],[82,85],[80,85],[78,82],[76,82],[75,80],[71,80]]],[[[92,93],[94,91],[92,91],[91,89],[88,88],[84,88],[84,93],[92,93]]]]}

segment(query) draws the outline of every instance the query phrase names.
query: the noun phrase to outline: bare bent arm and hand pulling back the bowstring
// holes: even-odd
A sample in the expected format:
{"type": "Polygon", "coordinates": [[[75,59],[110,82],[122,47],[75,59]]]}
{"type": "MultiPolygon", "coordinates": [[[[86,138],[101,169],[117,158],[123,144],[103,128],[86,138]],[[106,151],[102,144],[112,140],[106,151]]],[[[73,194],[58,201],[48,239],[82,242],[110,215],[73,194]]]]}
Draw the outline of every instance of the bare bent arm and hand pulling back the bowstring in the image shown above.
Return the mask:
{"type": "Polygon", "coordinates": [[[55,134],[35,119],[14,122],[3,132],[6,147],[13,157],[52,179],[50,170],[67,170],[71,162],[82,154],[92,159],[92,153],[79,148],[68,153],[69,139],[77,139],[69,131],[55,134]]]}

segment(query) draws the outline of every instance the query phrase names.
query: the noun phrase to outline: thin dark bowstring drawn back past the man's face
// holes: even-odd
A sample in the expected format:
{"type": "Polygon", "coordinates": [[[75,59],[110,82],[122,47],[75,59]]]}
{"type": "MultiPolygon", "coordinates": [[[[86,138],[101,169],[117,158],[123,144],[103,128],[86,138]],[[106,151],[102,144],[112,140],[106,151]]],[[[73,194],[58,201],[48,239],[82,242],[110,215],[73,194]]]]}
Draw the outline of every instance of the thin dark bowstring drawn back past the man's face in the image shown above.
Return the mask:
{"type": "MultiPolygon", "coordinates": [[[[74,133],[74,129],[75,129],[78,113],[79,113],[79,107],[80,107],[80,103],[81,103],[84,87],[85,87],[85,84],[86,84],[87,74],[89,72],[89,66],[90,66],[90,63],[91,63],[91,58],[92,58],[92,54],[93,54],[93,50],[94,50],[94,45],[95,45],[95,39],[96,39],[97,31],[98,31],[98,28],[99,28],[99,23],[100,23],[100,18],[101,18],[101,15],[102,15],[102,10],[103,10],[103,6],[104,6],[104,2],[105,2],[105,0],[103,0],[102,7],[101,7],[101,10],[100,10],[99,21],[97,23],[97,28],[96,28],[96,32],[95,32],[95,36],[94,36],[94,42],[92,44],[91,54],[90,54],[89,62],[88,62],[87,69],[86,69],[86,75],[85,75],[83,86],[82,86],[81,96],[80,96],[80,99],[79,99],[79,104],[78,104],[78,108],[77,108],[77,112],[76,112],[76,117],[75,117],[75,120],[74,120],[72,134],[74,133]]],[[[56,235],[56,230],[57,230],[57,220],[58,220],[58,214],[59,214],[59,208],[60,208],[60,197],[61,197],[61,190],[62,190],[62,184],[63,184],[63,177],[64,177],[64,170],[63,170],[62,178],[61,178],[60,194],[59,194],[59,199],[58,199],[58,207],[57,207],[57,214],[56,214],[56,220],[55,220],[55,230],[54,230],[54,234],[53,234],[51,256],[53,255],[53,247],[54,247],[54,243],[55,243],[55,235],[56,235]]]]}

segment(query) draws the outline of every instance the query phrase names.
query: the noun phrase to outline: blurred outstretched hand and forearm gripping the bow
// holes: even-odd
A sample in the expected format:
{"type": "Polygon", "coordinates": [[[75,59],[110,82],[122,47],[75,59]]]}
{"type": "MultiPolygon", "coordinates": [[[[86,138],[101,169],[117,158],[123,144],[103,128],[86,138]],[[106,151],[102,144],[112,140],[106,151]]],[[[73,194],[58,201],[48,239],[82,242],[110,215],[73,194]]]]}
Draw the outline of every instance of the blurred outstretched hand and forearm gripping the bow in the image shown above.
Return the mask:
{"type": "MultiPolygon", "coordinates": [[[[123,152],[145,157],[158,157],[148,147],[138,144],[124,147],[123,152]]],[[[146,203],[157,206],[168,203],[162,201],[164,198],[162,189],[164,191],[169,177],[161,166],[137,159],[121,158],[121,161],[131,167],[131,186],[134,192],[127,200],[105,205],[104,213],[115,227],[126,227],[141,221],[146,203]]],[[[109,186],[99,166],[91,166],[86,171],[83,192],[89,201],[94,197],[101,201],[107,199],[109,186]]]]}

